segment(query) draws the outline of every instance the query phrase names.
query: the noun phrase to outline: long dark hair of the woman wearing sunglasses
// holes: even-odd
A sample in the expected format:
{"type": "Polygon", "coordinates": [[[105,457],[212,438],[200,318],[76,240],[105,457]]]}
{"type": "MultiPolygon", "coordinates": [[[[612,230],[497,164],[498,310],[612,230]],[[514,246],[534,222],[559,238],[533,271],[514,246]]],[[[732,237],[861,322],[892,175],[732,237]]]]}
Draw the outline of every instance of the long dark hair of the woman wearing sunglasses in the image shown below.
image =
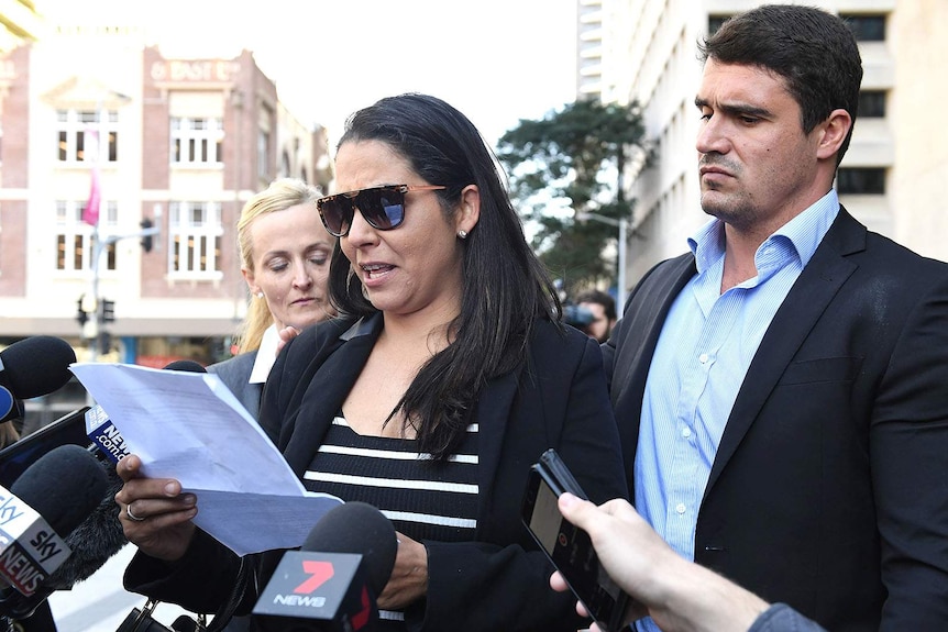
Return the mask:
{"type": "MultiPolygon", "coordinates": [[[[449,325],[452,344],[425,364],[393,411],[405,412],[421,452],[444,459],[463,439],[486,381],[522,362],[537,318],[555,315],[559,323],[560,301],[523,237],[493,154],[464,114],[426,95],[389,97],[346,121],[339,146],[359,141],[386,143],[426,181],[444,185],[437,193],[445,213],[458,208],[464,187],[476,185],[481,193],[479,220],[463,243],[463,298],[449,325]]],[[[341,313],[377,311],[339,247],[329,276],[341,313]]]]}

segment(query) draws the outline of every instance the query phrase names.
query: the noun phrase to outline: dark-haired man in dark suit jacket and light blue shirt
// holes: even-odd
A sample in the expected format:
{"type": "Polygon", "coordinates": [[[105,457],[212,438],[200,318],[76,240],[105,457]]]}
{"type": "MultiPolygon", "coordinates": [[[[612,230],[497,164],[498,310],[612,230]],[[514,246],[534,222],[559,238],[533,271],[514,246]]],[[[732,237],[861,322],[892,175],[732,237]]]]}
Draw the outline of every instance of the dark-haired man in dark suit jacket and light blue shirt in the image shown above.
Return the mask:
{"type": "Polygon", "coordinates": [[[699,49],[714,219],[604,346],[636,508],[834,632],[948,630],[948,265],[838,202],[855,38],[764,5],[699,49]]]}

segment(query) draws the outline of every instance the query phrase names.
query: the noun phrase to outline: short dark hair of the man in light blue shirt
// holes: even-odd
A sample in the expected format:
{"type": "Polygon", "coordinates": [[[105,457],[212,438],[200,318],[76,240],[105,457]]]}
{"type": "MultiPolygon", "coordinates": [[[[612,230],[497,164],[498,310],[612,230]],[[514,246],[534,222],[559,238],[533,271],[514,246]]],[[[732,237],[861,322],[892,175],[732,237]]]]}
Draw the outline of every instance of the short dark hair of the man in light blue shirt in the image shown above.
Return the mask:
{"type": "MultiPolygon", "coordinates": [[[[856,125],[862,59],[838,15],[814,7],[764,4],[727,20],[698,44],[698,56],[702,62],[759,66],[783,77],[807,134],[840,108],[856,125]]],[[[851,137],[852,126],[839,146],[837,166],[851,137]]]]}

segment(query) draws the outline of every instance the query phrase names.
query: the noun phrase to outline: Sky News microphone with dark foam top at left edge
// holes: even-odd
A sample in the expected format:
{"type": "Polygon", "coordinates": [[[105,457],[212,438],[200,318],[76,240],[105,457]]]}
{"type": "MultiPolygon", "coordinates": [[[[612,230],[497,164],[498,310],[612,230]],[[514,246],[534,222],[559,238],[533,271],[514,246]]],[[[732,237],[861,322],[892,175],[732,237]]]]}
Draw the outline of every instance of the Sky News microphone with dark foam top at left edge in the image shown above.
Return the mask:
{"type": "Polygon", "coordinates": [[[95,456],[62,445],[40,457],[9,491],[0,489],[0,610],[5,616],[23,618],[8,601],[29,601],[38,592],[69,556],[64,535],[92,512],[107,487],[95,456]]]}

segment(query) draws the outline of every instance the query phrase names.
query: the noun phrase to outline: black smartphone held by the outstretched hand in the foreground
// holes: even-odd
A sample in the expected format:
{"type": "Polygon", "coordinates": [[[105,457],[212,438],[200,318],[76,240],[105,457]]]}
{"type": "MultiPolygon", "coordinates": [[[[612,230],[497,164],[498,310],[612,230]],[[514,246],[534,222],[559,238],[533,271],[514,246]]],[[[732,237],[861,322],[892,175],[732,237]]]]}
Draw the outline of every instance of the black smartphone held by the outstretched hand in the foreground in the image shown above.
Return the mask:
{"type": "Polygon", "coordinates": [[[599,628],[620,630],[628,595],[603,569],[589,535],[560,513],[556,501],[564,491],[588,500],[556,452],[548,450],[530,467],[523,524],[599,628]]]}

